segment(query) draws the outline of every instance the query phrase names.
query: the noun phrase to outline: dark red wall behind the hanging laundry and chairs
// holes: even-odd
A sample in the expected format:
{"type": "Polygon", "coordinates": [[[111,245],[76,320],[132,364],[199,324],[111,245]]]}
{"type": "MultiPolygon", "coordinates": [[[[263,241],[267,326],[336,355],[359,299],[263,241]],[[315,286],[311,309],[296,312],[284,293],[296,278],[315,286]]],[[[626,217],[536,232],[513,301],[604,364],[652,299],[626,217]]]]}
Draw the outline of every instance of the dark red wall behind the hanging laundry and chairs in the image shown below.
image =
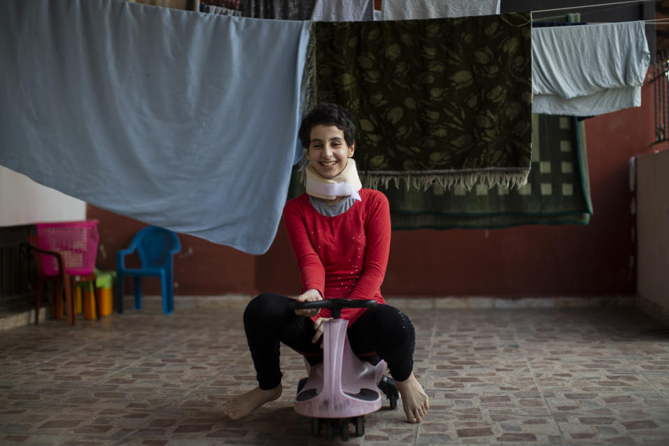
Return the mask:
{"type": "MultiPolygon", "coordinates": [[[[636,293],[635,217],[630,212],[629,158],[649,153],[654,140],[652,87],[642,107],[585,121],[594,215],[587,226],[518,226],[509,229],[395,231],[382,287],[387,296],[551,296],[636,293]]],[[[662,147],[664,148],[666,144],[662,147]]],[[[89,206],[100,220],[101,268],[114,268],[143,224],[89,206]]],[[[176,295],[273,291],[295,294],[300,277],[286,232],[279,227],[270,250],[249,256],[229,247],[181,236],[176,295]]],[[[154,291],[155,290],[155,291],[154,291]]],[[[157,288],[148,286],[148,293],[157,288]]]]}

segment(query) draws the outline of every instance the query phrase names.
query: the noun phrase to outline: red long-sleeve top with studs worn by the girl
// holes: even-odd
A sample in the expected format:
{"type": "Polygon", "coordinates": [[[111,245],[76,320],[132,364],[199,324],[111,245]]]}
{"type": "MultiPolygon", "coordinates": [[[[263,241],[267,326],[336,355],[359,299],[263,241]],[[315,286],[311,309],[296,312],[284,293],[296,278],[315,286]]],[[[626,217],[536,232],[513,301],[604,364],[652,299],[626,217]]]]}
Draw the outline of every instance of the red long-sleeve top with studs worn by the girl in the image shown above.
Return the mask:
{"type": "MultiPolygon", "coordinates": [[[[325,217],[302,194],[284,207],[284,223],[298,259],[302,293],[318,290],[324,299],[374,299],[385,303],[381,282],[390,252],[390,208],[384,194],[360,190],[345,213],[325,217]]],[[[341,317],[348,325],[364,309],[344,308],[341,317]]],[[[317,317],[330,317],[321,309],[317,317]]]]}

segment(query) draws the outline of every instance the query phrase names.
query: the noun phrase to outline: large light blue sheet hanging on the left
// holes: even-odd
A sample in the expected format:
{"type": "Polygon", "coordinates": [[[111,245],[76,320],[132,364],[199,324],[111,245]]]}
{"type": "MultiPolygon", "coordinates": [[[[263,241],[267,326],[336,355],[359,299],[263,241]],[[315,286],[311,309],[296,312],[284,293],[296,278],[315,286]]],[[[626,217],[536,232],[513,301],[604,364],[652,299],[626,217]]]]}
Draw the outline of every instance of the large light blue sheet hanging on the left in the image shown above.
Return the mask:
{"type": "Polygon", "coordinates": [[[120,0],[3,1],[0,164],[262,254],[301,155],[308,28],[120,0]]]}

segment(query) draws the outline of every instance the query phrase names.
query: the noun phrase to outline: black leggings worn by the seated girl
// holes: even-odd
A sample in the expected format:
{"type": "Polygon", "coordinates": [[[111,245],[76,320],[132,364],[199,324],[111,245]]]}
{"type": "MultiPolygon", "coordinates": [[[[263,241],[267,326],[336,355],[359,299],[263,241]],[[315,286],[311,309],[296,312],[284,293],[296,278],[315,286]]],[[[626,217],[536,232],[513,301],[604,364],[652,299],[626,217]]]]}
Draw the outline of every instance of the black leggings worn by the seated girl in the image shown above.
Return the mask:
{"type": "MultiPolygon", "coordinates": [[[[323,360],[320,342],[312,343],[314,323],[307,316],[298,316],[288,307],[291,298],[262,293],[244,312],[244,330],[249,342],[256,378],[262,390],[281,383],[279,342],[305,355],[310,364],[323,360]]],[[[390,305],[367,309],[348,328],[348,343],[357,355],[376,353],[388,363],[396,380],[406,380],[413,370],[415,330],[402,312],[390,305]]]]}

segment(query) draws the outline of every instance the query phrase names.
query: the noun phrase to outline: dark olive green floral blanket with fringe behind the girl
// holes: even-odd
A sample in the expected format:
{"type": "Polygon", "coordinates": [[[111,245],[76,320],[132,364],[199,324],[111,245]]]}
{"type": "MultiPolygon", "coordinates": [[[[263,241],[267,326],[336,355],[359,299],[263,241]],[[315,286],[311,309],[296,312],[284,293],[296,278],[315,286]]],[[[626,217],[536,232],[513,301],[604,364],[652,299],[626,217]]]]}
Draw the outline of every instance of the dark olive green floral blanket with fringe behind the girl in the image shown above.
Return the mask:
{"type": "Polygon", "coordinates": [[[529,13],[313,25],[312,93],[356,116],[365,186],[526,183],[529,13]]]}

